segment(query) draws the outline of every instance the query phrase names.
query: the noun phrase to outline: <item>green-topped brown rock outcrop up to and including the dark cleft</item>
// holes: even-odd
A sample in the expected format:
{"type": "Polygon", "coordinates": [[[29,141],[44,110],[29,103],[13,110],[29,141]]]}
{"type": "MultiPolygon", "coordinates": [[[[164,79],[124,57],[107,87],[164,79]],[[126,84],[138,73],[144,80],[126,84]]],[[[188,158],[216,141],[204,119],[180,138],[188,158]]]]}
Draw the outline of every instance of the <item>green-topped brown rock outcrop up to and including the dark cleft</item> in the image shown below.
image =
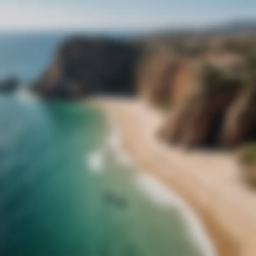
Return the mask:
{"type": "MultiPolygon", "coordinates": [[[[177,108],[162,128],[169,142],[185,146],[216,145],[228,107],[241,89],[241,79],[227,75],[212,65],[197,73],[194,94],[177,108]],[[201,75],[200,75],[201,74],[201,75]]],[[[194,86],[194,87],[195,87],[194,86]]]]}

